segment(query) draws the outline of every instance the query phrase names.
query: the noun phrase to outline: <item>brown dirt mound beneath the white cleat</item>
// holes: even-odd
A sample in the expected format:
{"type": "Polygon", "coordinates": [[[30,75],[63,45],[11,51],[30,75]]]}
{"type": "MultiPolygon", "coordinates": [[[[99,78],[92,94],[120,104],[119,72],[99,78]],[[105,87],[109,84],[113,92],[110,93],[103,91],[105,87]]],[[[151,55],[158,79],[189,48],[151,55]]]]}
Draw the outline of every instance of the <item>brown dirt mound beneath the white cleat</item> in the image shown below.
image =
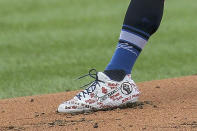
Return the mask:
{"type": "Polygon", "coordinates": [[[138,83],[140,102],[132,108],[90,114],[58,114],[66,92],[0,100],[0,130],[197,131],[197,75],[138,83]]]}

